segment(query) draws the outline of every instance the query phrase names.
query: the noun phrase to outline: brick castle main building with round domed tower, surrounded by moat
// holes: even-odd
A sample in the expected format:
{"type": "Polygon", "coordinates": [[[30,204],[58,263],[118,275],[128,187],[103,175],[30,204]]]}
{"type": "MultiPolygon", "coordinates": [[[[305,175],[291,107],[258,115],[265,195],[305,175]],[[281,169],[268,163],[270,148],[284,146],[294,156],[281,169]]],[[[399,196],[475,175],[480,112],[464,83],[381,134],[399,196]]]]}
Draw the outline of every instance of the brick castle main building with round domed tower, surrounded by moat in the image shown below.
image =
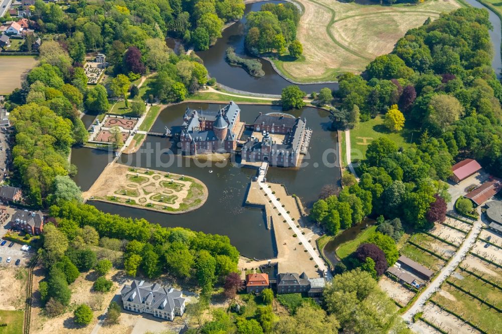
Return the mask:
{"type": "Polygon", "coordinates": [[[181,150],[187,155],[233,152],[244,130],[240,109],[230,101],[218,112],[197,111],[187,107],[181,125],[181,150]]]}

